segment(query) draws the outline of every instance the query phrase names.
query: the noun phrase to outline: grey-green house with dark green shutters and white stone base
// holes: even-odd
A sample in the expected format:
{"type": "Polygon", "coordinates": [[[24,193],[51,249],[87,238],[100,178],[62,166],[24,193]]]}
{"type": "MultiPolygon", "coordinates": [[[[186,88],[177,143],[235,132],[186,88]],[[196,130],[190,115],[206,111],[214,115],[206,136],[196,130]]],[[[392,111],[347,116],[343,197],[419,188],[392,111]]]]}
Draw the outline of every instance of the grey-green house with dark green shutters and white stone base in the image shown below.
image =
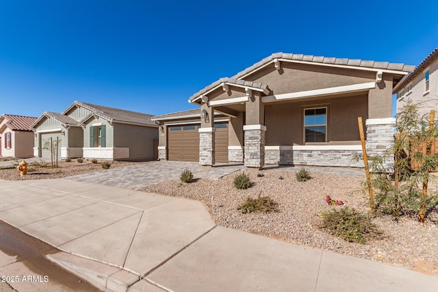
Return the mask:
{"type": "Polygon", "coordinates": [[[75,101],[62,114],[46,112],[34,123],[34,155],[50,156],[44,140],[57,137],[62,159],[156,159],[157,128],[149,114],[75,101]]]}

